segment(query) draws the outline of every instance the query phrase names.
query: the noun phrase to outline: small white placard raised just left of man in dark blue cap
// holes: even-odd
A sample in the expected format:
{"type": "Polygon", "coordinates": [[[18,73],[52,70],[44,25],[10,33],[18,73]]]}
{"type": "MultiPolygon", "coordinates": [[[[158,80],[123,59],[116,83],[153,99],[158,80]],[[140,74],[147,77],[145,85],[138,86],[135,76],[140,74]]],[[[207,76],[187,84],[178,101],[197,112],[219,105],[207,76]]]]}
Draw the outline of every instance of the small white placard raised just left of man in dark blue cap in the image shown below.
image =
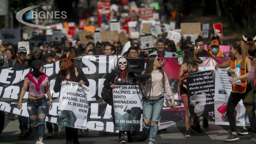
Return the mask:
{"type": "Polygon", "coordinates": [[[140,44],[142,46],[142,52],[154,48],[152,34],[140,36],[140,44]]]}

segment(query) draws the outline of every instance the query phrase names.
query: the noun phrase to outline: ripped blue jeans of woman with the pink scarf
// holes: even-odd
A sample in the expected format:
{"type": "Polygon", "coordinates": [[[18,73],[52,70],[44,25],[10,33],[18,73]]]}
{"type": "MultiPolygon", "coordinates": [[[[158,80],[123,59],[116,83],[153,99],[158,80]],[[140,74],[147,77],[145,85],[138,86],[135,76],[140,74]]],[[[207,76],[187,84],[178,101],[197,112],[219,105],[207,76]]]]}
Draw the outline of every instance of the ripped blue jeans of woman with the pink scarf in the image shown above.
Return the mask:
{"type": "Polygon", "coordinates": [[[28,99],[27,109],[32,122],[31,127],[34,140],[38,141],[39,138],[44,138],[45,118],[47,109],[46,98],[44,97],[38,100],[28,99]]]}

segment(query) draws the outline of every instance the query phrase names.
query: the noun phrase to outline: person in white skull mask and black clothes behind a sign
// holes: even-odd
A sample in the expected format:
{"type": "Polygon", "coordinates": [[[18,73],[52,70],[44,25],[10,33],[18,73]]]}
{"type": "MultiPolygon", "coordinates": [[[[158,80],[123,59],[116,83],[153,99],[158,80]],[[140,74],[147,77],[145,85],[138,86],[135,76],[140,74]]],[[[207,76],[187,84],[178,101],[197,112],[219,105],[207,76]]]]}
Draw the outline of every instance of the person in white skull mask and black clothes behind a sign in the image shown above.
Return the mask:
{"type": "MultiPolygon", "coordinates": [[[[117,60],[117,66],[112,72],[107,76],[106,80],[104,81],[104,86],[106,88],[115,88],[116,85],[128,85],[128,73],[130,72],[130,65],[126,58],[120,57],[117,60]]],[[[114,106],[112,104],[112,120],[115,125],[115,113],[114,113],[114,106]]],[[[119,142],[121,144],[126,143],[124,140],[125,131],[119,131],[119,142]]],[[[128,141],[130,137],[130,133],[127,132],[128,141]]]]}

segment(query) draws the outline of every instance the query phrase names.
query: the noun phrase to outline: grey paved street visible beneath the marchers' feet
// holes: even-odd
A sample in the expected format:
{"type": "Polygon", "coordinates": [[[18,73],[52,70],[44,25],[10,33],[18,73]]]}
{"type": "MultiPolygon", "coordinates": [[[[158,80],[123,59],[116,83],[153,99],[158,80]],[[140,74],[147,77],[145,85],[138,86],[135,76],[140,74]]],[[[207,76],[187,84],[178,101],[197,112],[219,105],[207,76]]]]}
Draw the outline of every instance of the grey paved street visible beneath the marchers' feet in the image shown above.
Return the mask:
{"type": "MultiPolygon", "coordinates": [[[[14,121],[8,120],[8,113],[6,113],[6,122],[4,130],[0,135],[0,144],[35,144],[32,134],[27,138],[19,138],[19,123],[18,116],[15,116],[14,121]]],[[[202,124],[202,122],[200,123],[202,124]]],[[[219,144],[225,143],[222,139],[228,136],[230,132],[229,126],[218,126],[213,121],[209,120],[209,128],[204,128],[205,134],[198,135],[191,132],[190,138],[185,138],[185,123],[176,124],[167,128],[167,131],[161,131],[158,134],[157,142],[154,144],[219,144]]],[[[201,126],[201,128],[203,128],[201,126]]],[[[239,127],[238,127],[239,129],[239,127]]],[[[47,130],[46,130],[47,132],[47,130]]],[[[45,135],[45,137],[47,134],[45,135]]],[[[240,140],[236,144],[250,144],[251,135],[240,136],[240,140]]],[[[118,144],[118,134],[109,133],[102,135],[102,132],[89,130],[88,134],[78,138],[80,144],[118,144]]],[[[66,144],[65,128],[59,126],[59,134],[54,135],[53,138],[45,138],[44,144],[66,144]]],[[[133,144],[148,144],[147,140],[144,142],[133,142],[133,144]]]]}

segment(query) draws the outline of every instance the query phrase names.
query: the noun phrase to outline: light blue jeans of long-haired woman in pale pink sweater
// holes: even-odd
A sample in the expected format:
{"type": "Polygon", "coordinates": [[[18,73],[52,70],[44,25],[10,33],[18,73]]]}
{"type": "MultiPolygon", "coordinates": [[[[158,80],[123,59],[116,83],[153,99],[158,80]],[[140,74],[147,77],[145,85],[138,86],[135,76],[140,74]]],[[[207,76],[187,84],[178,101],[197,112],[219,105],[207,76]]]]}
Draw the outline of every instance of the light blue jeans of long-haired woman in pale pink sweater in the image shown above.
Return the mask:
{"type": "Polygon", "coordinates": [[[158,100],[149,100],[148,102],[143,100],[143,120],[150,120],[150,126],[146,126],[145,122],[143,122],[145,131],[147,135],[149,135],[149,141],[156,141],[162,116],[163,104],[164,98],[160,98],[158,100]],[[153,125],[152,121],[157,122],[157,125],[153,125]]]}

